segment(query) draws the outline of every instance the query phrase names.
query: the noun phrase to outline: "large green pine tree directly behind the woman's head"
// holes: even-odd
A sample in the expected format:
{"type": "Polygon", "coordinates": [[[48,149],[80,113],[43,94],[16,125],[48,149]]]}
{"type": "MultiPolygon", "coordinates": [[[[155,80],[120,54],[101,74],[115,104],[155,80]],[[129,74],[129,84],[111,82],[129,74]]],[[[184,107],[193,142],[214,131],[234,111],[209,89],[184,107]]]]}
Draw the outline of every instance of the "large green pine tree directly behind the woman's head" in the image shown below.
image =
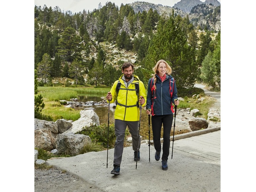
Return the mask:
{"type": "Polygon", "coordinates": [[[145,81],[152,77],[152,68],[160,59],[165,60],[171,66],[178,88],[193,88],[199,74],[195,49],[188,45],[186,33],[182,31],[179,23],[174,21],[173,16],[167,21],[160,19],[153,42],[143,61],[145,81]]]}

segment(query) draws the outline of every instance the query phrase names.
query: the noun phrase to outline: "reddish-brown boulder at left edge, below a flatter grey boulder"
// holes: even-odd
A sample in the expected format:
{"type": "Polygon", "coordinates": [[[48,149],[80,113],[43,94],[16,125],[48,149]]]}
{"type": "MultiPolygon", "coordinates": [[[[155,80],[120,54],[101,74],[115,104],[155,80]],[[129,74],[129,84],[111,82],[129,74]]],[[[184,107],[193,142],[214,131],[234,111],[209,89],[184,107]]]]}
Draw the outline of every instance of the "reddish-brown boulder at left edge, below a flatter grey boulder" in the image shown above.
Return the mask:
{"type": "Polygon", "coordinates": [[[52,136],[50,128],[34,130],[34,147],[50,151],[54,149],[55,138],[52,136]]]}

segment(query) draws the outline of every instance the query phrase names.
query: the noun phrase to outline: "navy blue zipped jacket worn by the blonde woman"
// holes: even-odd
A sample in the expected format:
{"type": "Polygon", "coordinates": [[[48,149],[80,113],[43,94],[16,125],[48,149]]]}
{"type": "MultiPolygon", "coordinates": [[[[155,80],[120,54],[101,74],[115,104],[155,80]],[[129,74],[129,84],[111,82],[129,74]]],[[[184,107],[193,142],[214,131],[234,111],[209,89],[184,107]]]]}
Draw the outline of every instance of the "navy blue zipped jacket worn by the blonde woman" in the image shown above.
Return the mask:
{"type": "Polygon", "coordinates": [[[154,115],[173,114],[171,110],[171,105],[172,103],[174,104],[174,99],[178,98],[175,81],[173,82],[173,79],[171,79],[172,76],[167,74],[166,74],[166,79],[163,82],[161,81],[158,75],[156,75],[156,77],[157,77],[157,81],[156,81],[157,89],[156,89],[156,92],[153,91],[153,96],[152,96],[151,87],[153,87],[154,85],[154,79],[152,81],[152,85],[151,85],[152,78],[149,79],[149,82],[148,82],[148,95],[147,95],[146,109],[151,108],[151,110],[153,110],[154,112],[154,115]],[[173,88],[172,98],[170,95],[170,81],[169,81],[170,79],[171,79],[171,88],[173,88]],[[153,106],[152,106],[152,102],[153,102],[153,106]]]}

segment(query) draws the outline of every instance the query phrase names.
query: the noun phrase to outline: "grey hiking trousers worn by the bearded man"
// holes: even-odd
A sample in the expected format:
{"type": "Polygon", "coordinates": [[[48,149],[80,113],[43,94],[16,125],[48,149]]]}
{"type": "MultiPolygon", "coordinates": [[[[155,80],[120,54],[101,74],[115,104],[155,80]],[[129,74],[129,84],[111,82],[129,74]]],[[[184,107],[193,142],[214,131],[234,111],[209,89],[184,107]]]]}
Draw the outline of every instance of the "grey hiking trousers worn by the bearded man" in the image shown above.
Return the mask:
{"type": "Polygon", "coordinates": [[[138,131],[139,121],[123,121],[115,119],[115,149],[114,149],[114,165],[121,165],[123,149],[124,149],[124,135],[125,129],[128,126],[129,132],[132,135],[132,149],[137,152],[137,148],[140,149],[141,138],[139,137],[138,147],[138,131]]]}

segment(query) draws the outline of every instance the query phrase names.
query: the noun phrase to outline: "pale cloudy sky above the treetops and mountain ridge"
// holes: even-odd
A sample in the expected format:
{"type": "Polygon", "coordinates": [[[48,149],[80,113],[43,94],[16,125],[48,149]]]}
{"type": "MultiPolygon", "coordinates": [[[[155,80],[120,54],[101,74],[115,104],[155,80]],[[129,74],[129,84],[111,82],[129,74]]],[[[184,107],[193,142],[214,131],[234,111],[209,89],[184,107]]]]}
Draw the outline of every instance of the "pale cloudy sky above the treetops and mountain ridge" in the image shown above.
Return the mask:
{"type": "MultiPolygon", "coordinates": [[[[137,0],[34,0],[34,5],[43,7],[46,5],[48,8],[51,6],[52,8],[58,6],[62,11],[71,11],[74,13],[82,12],[84,9],[85,11],[93,11],[94,9],[98,9],[99,3],[102,6],[106,5],[106,2],[115,3],[120,8],[121,3],[128,4],[136,2],[137,0]]],[[[166,6],[174,6],[175,3],[179,2],[180,0],[142,0],[144,2],[154,3],[154,4],[161,4],[166,6]]],[[[205,2],[205,0],[201,0],[205,2]]],[[[219,0],[221,2],[221,0],[219,0]]]]}

